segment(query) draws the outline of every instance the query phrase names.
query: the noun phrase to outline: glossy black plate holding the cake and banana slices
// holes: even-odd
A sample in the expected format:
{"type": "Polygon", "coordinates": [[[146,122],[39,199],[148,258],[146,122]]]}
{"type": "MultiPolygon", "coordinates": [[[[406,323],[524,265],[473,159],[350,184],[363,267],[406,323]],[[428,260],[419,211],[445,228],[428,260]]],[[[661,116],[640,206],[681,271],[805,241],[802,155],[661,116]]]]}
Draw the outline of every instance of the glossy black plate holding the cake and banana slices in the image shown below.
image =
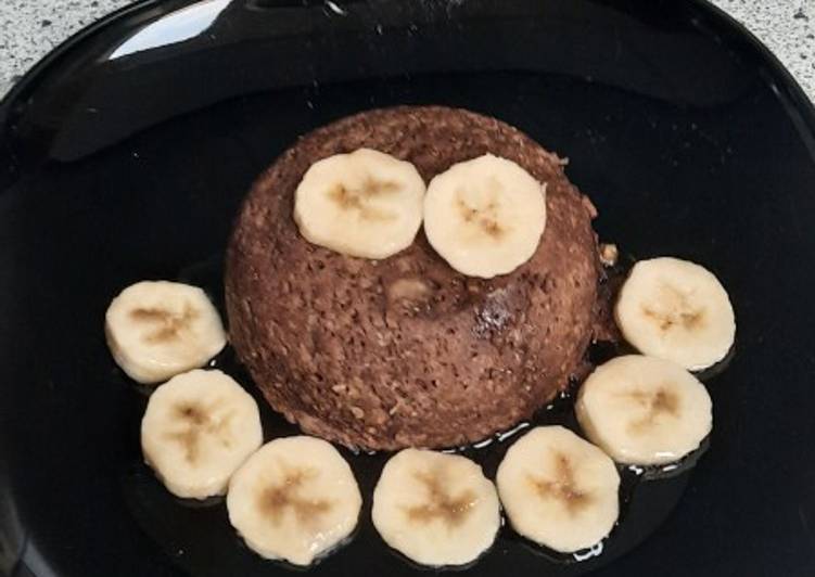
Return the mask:
{"type": "MultiPolygon", "coordinates": [[[[752,37],[693,0],[189,4],[120,11],[0,104],[0,572],[289,574],[242,546],[222,503],[175,500],[141,463],[145,394],[113,364],[103,313],[144,278],[217,296],[244,191],[298,134],[441,103],[568,156],[603,239],[706,265],[739,321],[689,483],[640,484],[586,563],[505,528],[467,574],[815,574],[815,113],[752,37]]],[[[499,452],[479,453],[487,471],[499,452]]],[[[367,507],[383,459],[354,459],[367,507]]],[[[314,574],[417,572],[367,515],[314,574]]]]}

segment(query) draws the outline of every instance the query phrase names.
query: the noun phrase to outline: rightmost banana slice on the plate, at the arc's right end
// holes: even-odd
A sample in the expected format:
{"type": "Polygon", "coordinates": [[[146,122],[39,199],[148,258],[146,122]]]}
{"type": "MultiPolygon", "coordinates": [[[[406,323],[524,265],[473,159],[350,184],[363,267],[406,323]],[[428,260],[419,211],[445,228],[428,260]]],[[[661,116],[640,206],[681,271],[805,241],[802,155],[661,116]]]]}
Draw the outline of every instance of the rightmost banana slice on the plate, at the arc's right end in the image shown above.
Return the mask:
{"type": "Polygon", "coordinates": [[[614,316],[640,352],[690,371],[724,359],[736,336],[733,305],[722,284],[703,267],[678,258],[637,262],[614,316]]]}

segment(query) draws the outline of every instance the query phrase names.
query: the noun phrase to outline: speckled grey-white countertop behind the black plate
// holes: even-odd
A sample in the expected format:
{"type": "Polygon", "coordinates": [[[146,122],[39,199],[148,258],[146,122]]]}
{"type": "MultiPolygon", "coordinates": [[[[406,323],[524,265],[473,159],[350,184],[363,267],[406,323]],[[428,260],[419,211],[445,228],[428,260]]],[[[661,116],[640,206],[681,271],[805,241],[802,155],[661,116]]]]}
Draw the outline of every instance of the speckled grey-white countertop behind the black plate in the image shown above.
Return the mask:
{"type": "MultiPolygon", "coordinates": [[[[130,0],[0,0],[0,95],[69,35],[128,3],[130,0]]],[[[764,41],[815,101],[815,0],[713,3],[764,41]]]]}

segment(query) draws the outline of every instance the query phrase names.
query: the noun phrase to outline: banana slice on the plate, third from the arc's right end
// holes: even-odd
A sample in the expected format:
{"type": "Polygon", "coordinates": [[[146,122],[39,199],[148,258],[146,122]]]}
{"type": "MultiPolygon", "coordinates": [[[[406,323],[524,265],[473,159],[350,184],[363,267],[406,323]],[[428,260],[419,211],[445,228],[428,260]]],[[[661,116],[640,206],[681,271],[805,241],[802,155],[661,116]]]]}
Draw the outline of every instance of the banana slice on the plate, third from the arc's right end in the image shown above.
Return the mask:
{"type": "Polygon", "coordinates": [[[598,543],[619,515],[614,462],[562,426],[536,427],[515,441],[496,482],[512,527],[562,553],[598,543]]]}

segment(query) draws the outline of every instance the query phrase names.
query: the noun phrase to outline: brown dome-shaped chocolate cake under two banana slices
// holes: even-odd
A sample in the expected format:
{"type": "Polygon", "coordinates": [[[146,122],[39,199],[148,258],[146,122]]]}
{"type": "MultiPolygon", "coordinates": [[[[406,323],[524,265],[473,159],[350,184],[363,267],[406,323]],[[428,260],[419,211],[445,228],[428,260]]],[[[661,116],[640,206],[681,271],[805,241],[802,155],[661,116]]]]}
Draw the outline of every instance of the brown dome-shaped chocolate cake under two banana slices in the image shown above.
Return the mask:
{"type": "Polygon", "coordinates": [[[227,255],[231,342],[269,403],[307,433],[365,449],[445,447],[511,427],[585,370],[603,298],[595,209],[563,162],[499,120],[441,106],[343,118],[301,138],[257,179],[227,255]],[[382,260],[307,242],[294,191],[317,161],[373,149],[425,182],[485,153],[546,184],[531,259],[466,277],[422,231],[382,260]]]}

